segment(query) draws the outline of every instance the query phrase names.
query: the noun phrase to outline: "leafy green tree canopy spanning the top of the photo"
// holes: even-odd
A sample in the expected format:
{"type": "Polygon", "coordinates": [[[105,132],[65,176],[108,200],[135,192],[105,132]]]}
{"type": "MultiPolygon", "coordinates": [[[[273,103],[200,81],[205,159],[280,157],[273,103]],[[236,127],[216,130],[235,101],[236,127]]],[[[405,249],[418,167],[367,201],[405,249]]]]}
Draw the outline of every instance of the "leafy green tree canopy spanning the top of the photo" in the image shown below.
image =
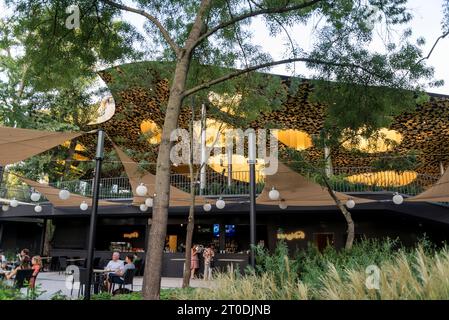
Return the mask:
{"type": "MultiPolygon", "coordinates": [[[[77,29],[65,26],[72,1],[7,3],[16,13],[14,32],[25,37],[23,59],[33,71],[36,88],[70,83],[99,66],[143,56],[178,61],[190,47],[194,50],[183,97],[206,101],[210,91],[241,95],[234,113],[249,123],[261,111],[278,108],[287,94],[280,78],[247,71],[300,62],[320,80],[313,98],[330,106],[329,130],[341,134],[347,132],[343,129],[363,127],[369,134],[388,124],[392,115],[413,108],[417,98],[422,101],[419,92],[424,86],[439,84],[423,59],[424,39],[414,39],[410,30],[396,42],[388,41],[387,35],[380,52],[370,48],[378,25],[394,30],[410,22],[412,12],[406,0],[81,0],[76,3],[80,9],[77,29]],[[199,12],[204,12],[203,30],[191,43],[189,35],[199,12]],[[136,21],[144,21],[144,31],[139,33],[125,22],[124,13],[140,17],[136,21]],[[274,61],[254,41],[255,19],[264,21],[271,36],[288,40],[283,61],[274,61]],[[295,26],[310,24],[314,24],[312,49],[291,32],[295,26]],[[136,49],[138,44],[143,51],[136,49]],[[354,85],[360,90],[353,90],[354,85]]],[[[174,64],[157,66],[173,80],[174,64]]],[[[291,81],[290,86],[295,90],[297,82],[291,81]]]]}

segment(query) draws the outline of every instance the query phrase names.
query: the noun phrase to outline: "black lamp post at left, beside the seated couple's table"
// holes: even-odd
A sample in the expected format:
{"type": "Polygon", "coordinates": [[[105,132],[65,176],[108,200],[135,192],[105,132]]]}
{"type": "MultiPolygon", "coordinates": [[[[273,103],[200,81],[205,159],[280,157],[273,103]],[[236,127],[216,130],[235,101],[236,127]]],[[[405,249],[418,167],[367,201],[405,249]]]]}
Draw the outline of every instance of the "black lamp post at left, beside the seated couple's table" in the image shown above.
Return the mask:
{"type": "Polygon", "coordinates": [[[100,175],[101,175],[101,163],[104,157],[104,131],[98,130],[98,143],[97,152],[95,155],[95,174],[94,174],[94,186],[93,186],[93,199],[92,199],[92,213],[90,215],[89,226],[89,244],[87,247],[87,284],[85,300],[90,300],[90,289],[93,277],[93,259],[94,259],[94,244],[95,244],[95,231],[97,226],[97,211],[98,211],[98,198],[100,194],[100,175]]]}

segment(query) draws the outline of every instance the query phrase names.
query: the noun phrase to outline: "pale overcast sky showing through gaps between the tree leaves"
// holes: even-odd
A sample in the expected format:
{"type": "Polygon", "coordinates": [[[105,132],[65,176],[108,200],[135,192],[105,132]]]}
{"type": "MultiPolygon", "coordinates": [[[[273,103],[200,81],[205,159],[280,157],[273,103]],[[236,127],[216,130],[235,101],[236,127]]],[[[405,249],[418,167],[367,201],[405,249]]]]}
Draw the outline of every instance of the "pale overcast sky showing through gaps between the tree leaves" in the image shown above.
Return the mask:
{"type": "MultiPolygon", "coordinates": [[[[427,55],[435,40],[441,35],[441,21],[442,21],[442,3],[445,0],[409,0],[409,7],[413,10],[414,18],[409,25],[413,30],[414,38],[424,37],[426,45],[424,53],[427,55]]],[[[76,3],[76,1],[74,1],[76,3]]],[[[3,0],[0,0],[0,11],[4,14],[3,0]]],[[[144,18],[141,16],[126,13],[124,18],[133,23],[138,29],[142,30],[144,18]]],[[[251,29],[254,30],[254,40],[265,51],[268,51],[274,59],[285,58],[286,38],[279,36],[276,38],[270,37],[262,20],[257,19],[252,24],[251,29]]],[[[380,28],[377,33],[382,35],[383,30],[380,28]]],[[[290,30],[290,34],[295,38],[295,41],[301,45],[302,48],[309,49],[311,42],[311,25],[297,27],[290,30]]],[[[375,50],[382,50],[382,42],[379,36],[373,43],[375,50]]],[[[438,88],[430,88],[429,92],[448,94],[449,95],[449,37],[441,40],[438,46],[432,53],[428,60],[429,65],[435,68],[435,78],[443,79],[444,86],[438,88]]],[[[308,71],[297,63],[295,65],[296,72],[301,75],[308,76],[308,71]]],[[[291,75],[291,71],[287,70],[285,66],[276,66],[271,69],[272,73],[291,75]]]]}

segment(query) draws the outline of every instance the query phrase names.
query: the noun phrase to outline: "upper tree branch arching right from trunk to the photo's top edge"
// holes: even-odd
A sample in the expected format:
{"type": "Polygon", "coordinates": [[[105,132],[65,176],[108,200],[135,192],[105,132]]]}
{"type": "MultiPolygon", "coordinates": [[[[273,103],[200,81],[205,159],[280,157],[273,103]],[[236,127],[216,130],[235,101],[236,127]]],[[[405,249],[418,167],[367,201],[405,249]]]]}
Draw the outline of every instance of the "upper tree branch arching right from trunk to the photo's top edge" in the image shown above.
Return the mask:
{"type": "Polygon", "coordinates": [[[260,10],[250,10],[249,12],[236,16],[234,18],[232,18],[231,20],[225,21],[220,23],[219,25],[213,27],[212,29],[210,29],[209,31],[207,31],[206,33],[204,33],[201,37],[198,38],[198,40],[195,43],[195,47],[197,45],[199,45],[203,40],[207,39],[208,37],[210,37],[212,34],[214,34],[215,32],[226,28],[232,24],[235,24],[239,21],[251,18],[251,17],[255,17],[255,16],[259,16],[262,14],[273,14],[273,13],[285,13],[285,12],[290,12],[290,11],[294,11],[294,10],[300,10],[300,9],[304,9],[310,6],[313,6],[315,4],[317,4],[318,2],[320,2],[322,0],[310,0],[307,2],[304,2],[302,4],[297,4],[297,5],[293,5],[293,6],[283,6],[283,7],[275,7],[275,8],[266,8],[266,9],[260,9],[260,10]]]}

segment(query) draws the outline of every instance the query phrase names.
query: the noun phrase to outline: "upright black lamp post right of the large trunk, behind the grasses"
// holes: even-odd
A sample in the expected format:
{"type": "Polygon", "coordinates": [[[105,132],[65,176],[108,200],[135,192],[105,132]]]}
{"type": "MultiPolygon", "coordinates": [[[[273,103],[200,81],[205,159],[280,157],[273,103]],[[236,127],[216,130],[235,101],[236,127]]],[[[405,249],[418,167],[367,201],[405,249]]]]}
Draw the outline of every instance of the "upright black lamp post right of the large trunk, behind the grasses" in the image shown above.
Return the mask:
{"type": "Polygon", "coordinates": [[[250,225],[250,263],[254,268],[256,257],[254,246],[256,245],[256,133],[251,130],[248,134],[248,164],[249,164],[249,225],[250,225]]]}

